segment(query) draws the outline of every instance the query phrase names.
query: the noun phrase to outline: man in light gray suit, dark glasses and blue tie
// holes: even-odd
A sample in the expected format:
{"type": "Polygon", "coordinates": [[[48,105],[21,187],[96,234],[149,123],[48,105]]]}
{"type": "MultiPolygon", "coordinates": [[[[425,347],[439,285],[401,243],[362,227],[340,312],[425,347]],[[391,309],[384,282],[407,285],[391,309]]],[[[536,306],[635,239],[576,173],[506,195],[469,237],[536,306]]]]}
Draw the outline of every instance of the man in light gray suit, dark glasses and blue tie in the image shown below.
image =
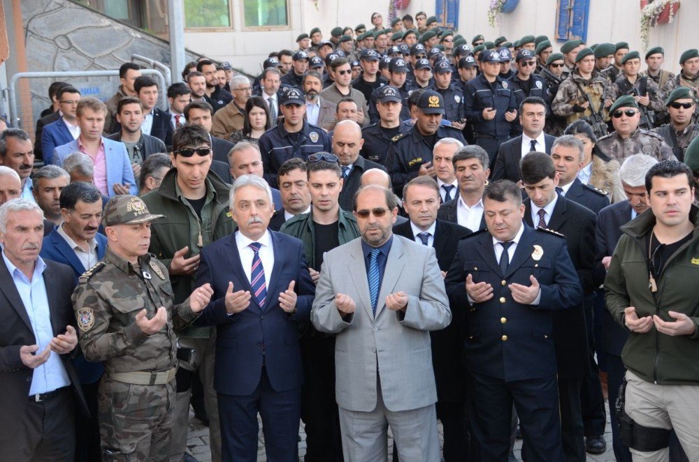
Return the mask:
{"type": "Polygon", "coordinates": [[[336,336],[336,399],[345,461],[440,460],[428,331],[449,325],[434,248],[394,236],[396,196],[364,186],[354,199],[361,239],[326,253],[311,311],[336,336]]]}

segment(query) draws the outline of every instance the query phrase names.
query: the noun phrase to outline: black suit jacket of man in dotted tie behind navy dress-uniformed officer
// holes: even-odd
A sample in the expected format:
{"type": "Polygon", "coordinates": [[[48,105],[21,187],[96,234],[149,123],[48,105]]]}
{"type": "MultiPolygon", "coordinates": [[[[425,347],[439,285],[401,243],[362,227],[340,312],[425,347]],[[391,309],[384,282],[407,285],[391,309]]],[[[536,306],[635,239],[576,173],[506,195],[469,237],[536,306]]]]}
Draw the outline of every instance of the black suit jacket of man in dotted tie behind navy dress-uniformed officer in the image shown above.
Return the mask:
{"type": "MultiPolygon", "coordinates": [[[[524,221],[533,226],[531,200],[526,199],[524,206],[524,221]]],[[[595,290],[593,264],[596,249],[593,242],[596,222],[597,217],[592,211],[559,195],[548,223],[549,230],[565,236],[568,255],[584,294],[595,290]]],[[[568,310],[554,313],[553,334],[559,377],[582,379],[589,375],[589,346],[582,301],[568,310]]]]}

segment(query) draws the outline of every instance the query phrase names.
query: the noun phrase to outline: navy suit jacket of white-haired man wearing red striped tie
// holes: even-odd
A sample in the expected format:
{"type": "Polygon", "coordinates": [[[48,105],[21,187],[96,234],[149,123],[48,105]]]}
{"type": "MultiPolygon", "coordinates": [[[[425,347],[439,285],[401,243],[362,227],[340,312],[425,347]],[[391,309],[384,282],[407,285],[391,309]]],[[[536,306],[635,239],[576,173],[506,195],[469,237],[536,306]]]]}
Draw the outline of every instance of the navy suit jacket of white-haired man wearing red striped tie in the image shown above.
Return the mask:
{"type": "Polygon", "coordinates": [[[315,285],[303,257],[303,243],[295,237],[270,231],[274,267],[267,279],[267,303],[260,308],[254,296],[250,306],[228,315],[224,296],[229,281],[233,292],[249,290],[250,281],[240,264],[236,234],[223,237],[201,249],[196,286],[210,283],[214,290],[210,303],[196,325],[217,325],[214,387],[217,392],[249,395],[257,388],[264,364],[277,392],[301,387],[303,368],[298,345],[298,321],[310,320],[315,285]],[[296,313],[289,315],[279,305],[279,294],[296,281],[296,313]]]}

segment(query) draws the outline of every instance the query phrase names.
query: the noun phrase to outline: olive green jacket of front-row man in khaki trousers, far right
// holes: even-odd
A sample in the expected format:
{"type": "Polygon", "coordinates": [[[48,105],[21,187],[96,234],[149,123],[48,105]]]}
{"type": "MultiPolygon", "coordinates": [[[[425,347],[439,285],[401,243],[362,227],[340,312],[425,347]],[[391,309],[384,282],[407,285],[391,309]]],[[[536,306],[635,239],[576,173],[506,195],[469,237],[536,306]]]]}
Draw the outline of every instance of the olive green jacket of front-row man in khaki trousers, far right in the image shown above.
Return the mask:
{"type": "Polygon", "coordinates": [[[607,278],[605,300],[614,320],[624,324],[624,308],[633,306],[639,318],[658,315],[673,321],[668,311],[684,313],[695,326],[694,334],[670,336],[655,326],[644,334],[630,332],[621,359],[640,378],[660,385],[699,385],[699,209],[690,211],[694,231],[689,242],[677,249],[658,277],[658,291],[649,288],[648,234],[656,218],[651,210],[621,227],[624,234],[614,250],[607,278]]]}

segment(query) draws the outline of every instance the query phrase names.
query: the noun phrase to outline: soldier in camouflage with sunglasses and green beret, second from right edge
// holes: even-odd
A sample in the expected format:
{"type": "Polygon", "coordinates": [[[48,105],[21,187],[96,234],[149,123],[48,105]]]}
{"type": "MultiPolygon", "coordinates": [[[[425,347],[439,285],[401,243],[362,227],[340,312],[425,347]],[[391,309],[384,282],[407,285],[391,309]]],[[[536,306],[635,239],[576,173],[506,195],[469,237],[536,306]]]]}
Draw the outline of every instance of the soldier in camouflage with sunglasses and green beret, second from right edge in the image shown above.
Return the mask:
{"type": "Polygon", "coordinates": [[[610,114],[614,132],[597,141],[597,147],[607,156],[620,164],[633,154],[647,154],[658,161],[677,160],[675,154],[672,154],[672,149],[663,141],[663,137],[638,128],[641,115],[633,96],[624,95],[614,101],[610,107],[610,114]]]}

